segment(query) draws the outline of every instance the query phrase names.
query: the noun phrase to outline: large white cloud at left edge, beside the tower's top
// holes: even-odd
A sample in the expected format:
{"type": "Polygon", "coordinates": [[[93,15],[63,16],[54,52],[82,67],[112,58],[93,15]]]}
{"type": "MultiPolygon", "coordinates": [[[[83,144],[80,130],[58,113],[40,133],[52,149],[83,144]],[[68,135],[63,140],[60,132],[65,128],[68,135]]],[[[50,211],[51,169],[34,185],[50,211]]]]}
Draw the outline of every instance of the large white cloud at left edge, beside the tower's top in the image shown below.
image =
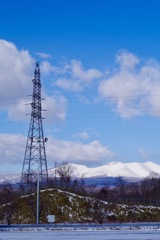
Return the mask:
{"type": "Polygon", "coordinates": [[[31,92],[34,59],[28,51],[0,40],[0,96],[1,98],[21,97],[31,92]]]}

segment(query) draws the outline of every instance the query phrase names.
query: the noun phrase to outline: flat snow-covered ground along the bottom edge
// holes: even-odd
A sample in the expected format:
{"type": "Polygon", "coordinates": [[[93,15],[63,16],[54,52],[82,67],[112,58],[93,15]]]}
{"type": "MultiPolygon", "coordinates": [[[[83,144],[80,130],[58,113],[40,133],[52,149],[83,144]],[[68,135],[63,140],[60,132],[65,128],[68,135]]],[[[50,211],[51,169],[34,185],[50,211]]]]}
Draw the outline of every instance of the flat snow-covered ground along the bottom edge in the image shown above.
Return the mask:
{"type": "Polygon", "coordinates": [[[6,231],[0,240],[159,240],[158,230],[6,231]]]}

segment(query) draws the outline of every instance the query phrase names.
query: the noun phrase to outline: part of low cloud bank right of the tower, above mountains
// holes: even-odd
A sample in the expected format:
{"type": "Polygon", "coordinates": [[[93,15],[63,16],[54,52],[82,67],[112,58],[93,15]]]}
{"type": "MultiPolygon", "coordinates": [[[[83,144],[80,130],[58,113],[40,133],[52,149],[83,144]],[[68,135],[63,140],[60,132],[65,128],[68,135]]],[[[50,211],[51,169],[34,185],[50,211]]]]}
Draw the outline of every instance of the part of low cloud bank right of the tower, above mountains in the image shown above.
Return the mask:
{"type": "Polygon", "coordinates": [[[93,164],[102,163],[108,158],[115,157],[115,154],[107,146],[103,146],[97,140],[84,144],[50,137],[48,143],[46,146],[47,156],[52,166],[55,161],[93,164]]]}

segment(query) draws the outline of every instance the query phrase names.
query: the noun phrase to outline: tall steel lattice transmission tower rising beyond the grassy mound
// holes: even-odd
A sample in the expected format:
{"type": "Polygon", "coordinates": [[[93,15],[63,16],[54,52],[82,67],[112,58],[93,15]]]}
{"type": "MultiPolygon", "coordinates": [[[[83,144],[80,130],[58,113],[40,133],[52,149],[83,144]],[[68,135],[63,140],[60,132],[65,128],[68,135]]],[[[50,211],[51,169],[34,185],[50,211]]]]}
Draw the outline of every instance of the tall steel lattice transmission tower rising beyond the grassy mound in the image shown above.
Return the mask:
{"type": "Polygon", "coordinates": [[[36,63],[31,103],[31,119],[26,143],[21,183],[48,181],[45,142],[42,125],[40,67],[36,63]]]}

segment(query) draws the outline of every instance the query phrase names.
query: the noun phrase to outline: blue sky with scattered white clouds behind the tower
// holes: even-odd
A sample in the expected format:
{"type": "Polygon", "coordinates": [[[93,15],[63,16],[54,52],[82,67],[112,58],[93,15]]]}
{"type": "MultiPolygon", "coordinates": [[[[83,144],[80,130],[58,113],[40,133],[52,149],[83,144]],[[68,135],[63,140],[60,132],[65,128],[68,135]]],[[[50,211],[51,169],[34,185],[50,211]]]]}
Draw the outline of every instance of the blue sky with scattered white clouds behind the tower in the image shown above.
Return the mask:
{"type": "Polygon", "coordinates": [[[0,174],[22,169],[35,61],[49,168],[159,163],[160,2],[0,3],[0,174]]]}

